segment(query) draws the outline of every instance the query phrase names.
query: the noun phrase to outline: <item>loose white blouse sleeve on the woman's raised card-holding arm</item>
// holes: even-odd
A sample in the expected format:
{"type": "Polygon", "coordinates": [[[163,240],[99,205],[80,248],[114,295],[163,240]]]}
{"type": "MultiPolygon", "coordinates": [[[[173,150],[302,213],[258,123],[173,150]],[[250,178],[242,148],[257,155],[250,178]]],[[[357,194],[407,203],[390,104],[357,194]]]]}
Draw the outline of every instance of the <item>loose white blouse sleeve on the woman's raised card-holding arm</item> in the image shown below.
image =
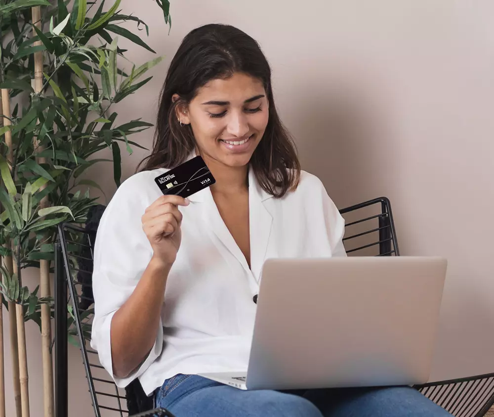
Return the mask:
{"type": "Polygon", "coordinates": [[[152,257],[151,244],[141,226],[146,207],[154,201],[152,190],[146,191],[143,186],[146,184],[142,181],[145,174],[130,177],[117,189],[101,217],[94,245],[91,347],[98,352],[101,365],[119,387],[125,387],[138,378],[163,349],[163,322],[160,318],[154,346],[145,360],[125,378],[114,375],[110,344],[112,318],[132,294],[152,257]]]}

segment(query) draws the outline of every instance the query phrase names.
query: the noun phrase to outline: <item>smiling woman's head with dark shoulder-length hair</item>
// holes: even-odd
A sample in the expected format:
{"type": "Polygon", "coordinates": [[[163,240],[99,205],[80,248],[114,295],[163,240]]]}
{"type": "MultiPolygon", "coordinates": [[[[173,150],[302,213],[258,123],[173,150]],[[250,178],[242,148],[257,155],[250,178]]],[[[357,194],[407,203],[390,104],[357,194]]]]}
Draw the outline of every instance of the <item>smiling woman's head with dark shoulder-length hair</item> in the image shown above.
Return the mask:
{"type": "Polygon", "coordinates": [[[261,187],[276,196],[299,182],[269,64],[255,40],[232,26],[202,26],[182,41],[165,79],[153,151],[137,170],[173,168],[192,151],[213,165],[213,175],[214,165],[250,163],[261,187]]]}

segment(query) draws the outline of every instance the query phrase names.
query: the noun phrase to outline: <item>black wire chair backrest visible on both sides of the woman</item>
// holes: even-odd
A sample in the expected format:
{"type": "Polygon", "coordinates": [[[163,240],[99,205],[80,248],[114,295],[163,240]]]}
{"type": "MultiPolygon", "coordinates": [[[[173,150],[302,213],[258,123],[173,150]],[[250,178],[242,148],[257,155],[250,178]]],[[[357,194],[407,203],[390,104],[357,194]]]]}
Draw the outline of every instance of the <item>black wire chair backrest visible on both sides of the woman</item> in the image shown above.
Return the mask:
{"type": "MultiPolygon", "coordinates": [[[[391,206],[386,198],[347,207],[340,212],[347,221],[344,243],[349,256],[399,254],[391,206]]],[[[126,390],[118,388],[100,365],[97,352],[89,345],[94,316],[91,276],[95,228],[89,230],[62,224],[59,237],[72,307],[68,336],[81,350],[95,416],[124,417],[129,409],[130,414],[151,409],[152,400],[145,397],[140,383],[134,381],[126,390]]]]}

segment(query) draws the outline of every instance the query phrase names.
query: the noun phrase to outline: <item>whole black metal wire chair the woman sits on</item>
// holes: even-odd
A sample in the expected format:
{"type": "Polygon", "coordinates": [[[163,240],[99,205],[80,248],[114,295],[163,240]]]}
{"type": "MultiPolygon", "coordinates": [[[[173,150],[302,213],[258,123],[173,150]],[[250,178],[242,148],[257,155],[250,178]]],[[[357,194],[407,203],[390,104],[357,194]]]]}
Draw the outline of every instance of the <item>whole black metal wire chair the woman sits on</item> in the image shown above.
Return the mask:
{"type": "MultiPolygon", "coordinates": [[[[391,204],[387,198],[377,198],[340,212],[346,220],[344,243],[348,256],[400,254],[391,204]]],[[[56,415],[67,416],[67,336],[76,336],[96,417],[105,416],[104,412],[112,413],[106,415],[113,416],[119,413],[121,417],[173,417],[163,409],[146,411],[153,407],[152,400],[144,395],[138,381],[133,381],[125,390],[118,389],[99,365],[97,353],[88,344],[86,346],[93,315],[91,274],[96,227],[87,230],[87,227],[82,229],[67,224],[59,226],[55,245],[56,415]],[[73,317],[69,319],[66,310],[67,288],[73,312],[73,317]],[[135,414],[139,412],[141,414],[135,414]]],[[[494,373],[433,382],[414,388],[456,417],[484,416],[494,403],[494,373]]]]}

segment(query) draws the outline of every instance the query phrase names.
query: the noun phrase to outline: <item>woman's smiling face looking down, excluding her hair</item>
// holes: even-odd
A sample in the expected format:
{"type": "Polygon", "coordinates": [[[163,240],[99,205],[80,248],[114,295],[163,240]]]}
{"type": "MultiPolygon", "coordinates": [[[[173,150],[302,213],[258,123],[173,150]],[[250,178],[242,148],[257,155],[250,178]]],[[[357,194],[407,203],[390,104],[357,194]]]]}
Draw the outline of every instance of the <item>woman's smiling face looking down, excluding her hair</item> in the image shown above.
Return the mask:
{"type": "Polygon", "coordinates": [[[268,110],[262,82],[234,73],[207,83],[178,116],[190,123],[201,155],[240,167],[248,164],[264,135],[268,110]]]}

